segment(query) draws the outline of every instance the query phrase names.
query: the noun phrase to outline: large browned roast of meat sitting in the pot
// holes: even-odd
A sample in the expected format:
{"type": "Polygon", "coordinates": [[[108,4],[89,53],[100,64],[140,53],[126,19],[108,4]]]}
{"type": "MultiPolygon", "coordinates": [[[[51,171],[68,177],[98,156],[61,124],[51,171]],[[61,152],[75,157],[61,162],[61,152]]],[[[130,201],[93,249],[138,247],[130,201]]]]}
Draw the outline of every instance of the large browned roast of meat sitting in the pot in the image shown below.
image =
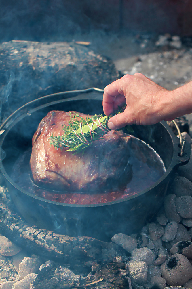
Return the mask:
{"type": "MultiPolygon", "coordinates": [[[[77,112],[72,112],[71,116],[77,112]]],[[[88,117],[79,113],[80,117],[88,117]]],[[[30,159],[34,183],[52,190],[94,192],[117,190],[132,178],[129,164],[132,138],[123,131],[110,131],[89,147],[75,153],[50,146],[53,133],[63,134],[69,112],[50,111],[39,123],[32,140],[30,159]]]]}

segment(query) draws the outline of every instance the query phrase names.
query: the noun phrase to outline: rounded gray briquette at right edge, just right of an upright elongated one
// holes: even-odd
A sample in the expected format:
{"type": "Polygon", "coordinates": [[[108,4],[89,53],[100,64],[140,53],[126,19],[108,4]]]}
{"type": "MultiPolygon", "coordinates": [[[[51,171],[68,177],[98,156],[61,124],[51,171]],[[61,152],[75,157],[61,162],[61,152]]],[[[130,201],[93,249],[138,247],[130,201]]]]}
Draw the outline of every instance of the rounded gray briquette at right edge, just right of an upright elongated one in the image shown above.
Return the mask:
{"type": "Polygon", "coordinates": [[[177,212],[182,218],[192,218],[192,197],[182,196],[176,199],[177,212]]]}

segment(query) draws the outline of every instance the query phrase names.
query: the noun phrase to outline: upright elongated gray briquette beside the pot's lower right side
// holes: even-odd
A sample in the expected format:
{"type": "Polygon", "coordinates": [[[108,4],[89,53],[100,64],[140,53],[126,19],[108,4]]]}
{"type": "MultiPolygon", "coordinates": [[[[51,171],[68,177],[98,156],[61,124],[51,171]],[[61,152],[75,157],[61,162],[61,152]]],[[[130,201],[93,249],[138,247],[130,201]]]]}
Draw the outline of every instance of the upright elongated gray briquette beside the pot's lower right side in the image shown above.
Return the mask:
{"type": "Polygon", "coordinates": [[[166,217],[170,221],[175,221],[176,223],[180,223],[181,217],[177,212],[176,199],[177,197],[175,194],[168,194],[165,197],[164,209],[165,209],[166,217]]]}

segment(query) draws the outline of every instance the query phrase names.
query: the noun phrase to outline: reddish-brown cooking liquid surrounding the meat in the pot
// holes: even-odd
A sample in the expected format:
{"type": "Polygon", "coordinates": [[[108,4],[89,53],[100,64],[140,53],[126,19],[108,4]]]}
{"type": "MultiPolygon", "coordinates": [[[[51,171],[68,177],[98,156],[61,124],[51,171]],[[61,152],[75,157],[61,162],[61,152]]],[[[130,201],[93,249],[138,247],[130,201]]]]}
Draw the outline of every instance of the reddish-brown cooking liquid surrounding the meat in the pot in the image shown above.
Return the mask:
{"type": "Polygon", "coordinates": [[[165,166],[157,152],[148,144],[132,136],[132,152],[129,158],[132,164],[132,180],[118,191],[100,191],[96,193],[53,191],[36,186],[31,179],[29,160],[31,149],[16,161],[12,179],[22,189],[43,199],[67,204],[101,204],[130,197],[153,185],[164,173],[165,166]]]}

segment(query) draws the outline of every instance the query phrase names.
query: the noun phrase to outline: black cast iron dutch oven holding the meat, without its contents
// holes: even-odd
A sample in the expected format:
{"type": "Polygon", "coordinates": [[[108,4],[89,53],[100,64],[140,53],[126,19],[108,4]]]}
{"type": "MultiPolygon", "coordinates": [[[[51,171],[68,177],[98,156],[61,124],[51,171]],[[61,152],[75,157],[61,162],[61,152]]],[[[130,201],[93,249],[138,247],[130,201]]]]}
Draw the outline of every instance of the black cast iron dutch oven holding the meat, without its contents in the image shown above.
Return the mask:
{"type": "Polygon", "coordinates": [[[180,156],[180,140],[164,121],[148,126],[133,125],[134,135],[153,147],[166,167],[164,175],[153,186],[126,199],[103,204],[71,205],[49,201],[20,188],[11,173],[16,160],[31,147],[39,122],[50,110],[103,114],[102,93],[92,88],[41,97],[16,110],[1,126],[0,130],[5,131],[0,141],[0,170],[17,210],[31,225],[69,236],[109,240],[116,233],[138,231],[159,210],[178,166],[189,161],[190,145],[186,143],[180,156]]]}

